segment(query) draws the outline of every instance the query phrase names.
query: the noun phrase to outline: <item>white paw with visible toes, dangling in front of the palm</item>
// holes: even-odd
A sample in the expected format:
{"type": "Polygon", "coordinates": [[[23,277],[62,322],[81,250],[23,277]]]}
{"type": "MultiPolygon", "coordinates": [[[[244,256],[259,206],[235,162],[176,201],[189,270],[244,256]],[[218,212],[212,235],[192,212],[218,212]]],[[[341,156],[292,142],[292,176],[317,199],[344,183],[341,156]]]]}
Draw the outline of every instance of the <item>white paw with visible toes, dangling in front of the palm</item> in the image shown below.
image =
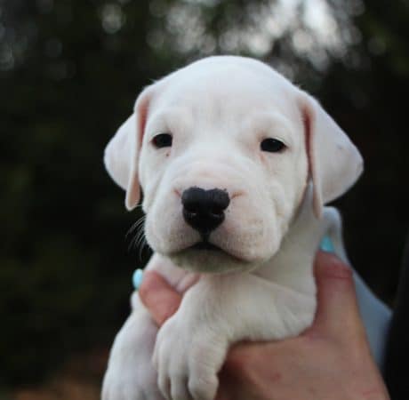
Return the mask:
{"type": "Polygon", "coordinates": [[[159,330],[153,356],[158,386],[169,400],[213,400],[227,343],[206,327],[189,328],[175,315],[159,330]]]}

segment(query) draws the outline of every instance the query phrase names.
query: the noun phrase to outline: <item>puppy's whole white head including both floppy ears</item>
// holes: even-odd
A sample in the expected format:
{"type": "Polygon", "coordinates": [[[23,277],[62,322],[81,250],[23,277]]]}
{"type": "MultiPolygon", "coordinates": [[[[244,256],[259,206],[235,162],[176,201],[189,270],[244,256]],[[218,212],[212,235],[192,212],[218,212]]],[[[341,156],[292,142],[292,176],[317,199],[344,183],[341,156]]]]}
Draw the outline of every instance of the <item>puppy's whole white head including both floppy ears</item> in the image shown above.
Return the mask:
{"type": "Polygon", "coordinates": [[[153,250],[200,272],[269,260],[309,180],[319,218],[362,172],[357,148],[316,100],[261,62],[229,56],[141,92],[105,164],[129,210],[143,189],[153,250]]]}

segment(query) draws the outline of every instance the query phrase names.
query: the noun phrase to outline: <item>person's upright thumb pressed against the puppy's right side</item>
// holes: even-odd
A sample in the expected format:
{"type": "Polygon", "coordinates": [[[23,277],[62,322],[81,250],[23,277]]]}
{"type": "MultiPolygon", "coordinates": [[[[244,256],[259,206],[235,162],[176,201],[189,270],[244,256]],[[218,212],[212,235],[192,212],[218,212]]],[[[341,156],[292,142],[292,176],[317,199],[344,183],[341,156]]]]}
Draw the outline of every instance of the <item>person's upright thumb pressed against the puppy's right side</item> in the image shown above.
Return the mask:
{"type": "Polygon", "coordinates": [[[328,252],[317,252],[314,268],[318,304],[313,329],[342,340],[363,332],[351,268],[328,252]]]}

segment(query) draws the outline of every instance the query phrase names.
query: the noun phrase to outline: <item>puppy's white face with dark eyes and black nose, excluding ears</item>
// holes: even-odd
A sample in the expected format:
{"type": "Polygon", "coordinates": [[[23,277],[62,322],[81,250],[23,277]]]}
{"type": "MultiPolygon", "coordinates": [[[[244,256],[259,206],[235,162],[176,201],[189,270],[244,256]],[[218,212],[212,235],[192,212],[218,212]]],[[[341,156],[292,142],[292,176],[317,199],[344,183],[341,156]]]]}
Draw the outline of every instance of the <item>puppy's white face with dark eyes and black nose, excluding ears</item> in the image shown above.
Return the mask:
{"type": "Polygon", "coordinates": [[[149,104],[140,152],[146,237],[183,268],[253,268],[277,252],[306,186],[301,113],[253,70],[198,72],[175,76],[149,104]],[[196,203],[185,201],[189,189],[196,203]],[[212,189],[227,206],[218,209],[212,189]]]}

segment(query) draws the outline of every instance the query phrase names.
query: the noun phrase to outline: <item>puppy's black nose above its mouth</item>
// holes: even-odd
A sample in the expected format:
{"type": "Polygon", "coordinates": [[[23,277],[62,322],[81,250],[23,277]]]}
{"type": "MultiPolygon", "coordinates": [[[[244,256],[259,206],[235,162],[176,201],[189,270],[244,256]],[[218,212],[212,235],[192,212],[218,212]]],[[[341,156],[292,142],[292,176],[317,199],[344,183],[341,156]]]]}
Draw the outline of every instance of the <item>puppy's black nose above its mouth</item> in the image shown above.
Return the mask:
{"type": "Polygon", "coordinates": [[[228,192],[218,188],[205,190],[193,187],[186,189],[181,195],[183,218],[204,240],[213,229],[221,225],[224,210],[228,208],[229,203],[228,192]]]}

